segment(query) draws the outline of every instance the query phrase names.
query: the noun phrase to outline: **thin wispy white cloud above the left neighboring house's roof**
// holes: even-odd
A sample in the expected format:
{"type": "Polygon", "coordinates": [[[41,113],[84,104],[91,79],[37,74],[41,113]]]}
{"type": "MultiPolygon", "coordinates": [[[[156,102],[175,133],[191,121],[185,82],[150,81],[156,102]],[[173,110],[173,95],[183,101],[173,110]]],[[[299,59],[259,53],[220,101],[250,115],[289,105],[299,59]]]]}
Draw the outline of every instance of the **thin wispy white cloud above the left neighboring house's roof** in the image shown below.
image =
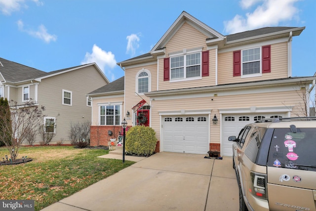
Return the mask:
{"type": "Polygon", "coordinates": [[[26,32],[35,38],[39,38],[40,40],[43,40],[44,42],[49,43],[51,41],[57,40],[57,36],[48,34],[47,29],[42,24],[39,26],[37,31],[30,30],[30,29],[24,29],[24,23],[22,20],[18,20],[17,24],[18,24],[18,28],[20,31],[26,32]]]}

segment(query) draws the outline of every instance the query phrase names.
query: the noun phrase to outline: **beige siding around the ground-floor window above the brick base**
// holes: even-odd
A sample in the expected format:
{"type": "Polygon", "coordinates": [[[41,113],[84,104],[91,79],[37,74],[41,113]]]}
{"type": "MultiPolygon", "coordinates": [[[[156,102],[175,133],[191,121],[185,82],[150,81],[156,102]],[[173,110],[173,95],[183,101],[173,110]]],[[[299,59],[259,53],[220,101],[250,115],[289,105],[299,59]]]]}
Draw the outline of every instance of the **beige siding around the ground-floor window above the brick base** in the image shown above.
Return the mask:
{"type": "MultiPolygon", "coordinates": [[[[106,103],[112,103],[112,102],[123,102],[124,96],[121,97],[113,97],[113,98],[103,98],[103,99],[94,99],[92,98],[92,123],[93,126],[99,125],[99,104],[106,104],[106,103]]],[[[122,105],[121,110],[121,117],[124,118],[126,112],[123,112],[124,104],[122,105]]]]}

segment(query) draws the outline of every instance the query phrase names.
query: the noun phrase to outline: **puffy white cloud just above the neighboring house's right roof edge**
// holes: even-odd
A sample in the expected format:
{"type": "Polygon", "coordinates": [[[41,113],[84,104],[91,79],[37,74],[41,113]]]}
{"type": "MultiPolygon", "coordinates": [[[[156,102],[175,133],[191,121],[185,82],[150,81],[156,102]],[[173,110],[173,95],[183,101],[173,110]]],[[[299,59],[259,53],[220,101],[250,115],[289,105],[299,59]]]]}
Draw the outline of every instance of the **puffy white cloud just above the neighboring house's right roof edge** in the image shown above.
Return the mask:
{"type": "Polygon", "coordinates": [[[106,52],[94,44],[92,53],[86,52],[81,64],[89,64],[93,62],[98,65],[111,81],[115,80],[115,75],[112,73],[111,69],[114,69],[117,66],[117,61],[115,60],[115,55],[111,51],[106,52]],[[109,70],[106,67],[109,67],[109,70]]]}

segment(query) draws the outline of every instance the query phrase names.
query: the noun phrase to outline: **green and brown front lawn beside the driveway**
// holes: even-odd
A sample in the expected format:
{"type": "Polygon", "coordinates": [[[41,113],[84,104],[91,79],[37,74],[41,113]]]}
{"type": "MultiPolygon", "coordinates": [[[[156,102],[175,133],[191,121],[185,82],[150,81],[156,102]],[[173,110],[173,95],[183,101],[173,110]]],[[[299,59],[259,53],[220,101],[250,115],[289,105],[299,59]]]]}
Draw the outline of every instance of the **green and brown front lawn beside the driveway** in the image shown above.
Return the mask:
{"type": "MultiPolygon", "coordinates": [[[[32,162],[0,166],[0,200],[35,200],[39,211],[115,174],[134,162],[97,158],[108,150],[65,146],[21,147],[18,158],[32,162]]],[[[8,155],[0,148],[0,159],[8,155]]]]}

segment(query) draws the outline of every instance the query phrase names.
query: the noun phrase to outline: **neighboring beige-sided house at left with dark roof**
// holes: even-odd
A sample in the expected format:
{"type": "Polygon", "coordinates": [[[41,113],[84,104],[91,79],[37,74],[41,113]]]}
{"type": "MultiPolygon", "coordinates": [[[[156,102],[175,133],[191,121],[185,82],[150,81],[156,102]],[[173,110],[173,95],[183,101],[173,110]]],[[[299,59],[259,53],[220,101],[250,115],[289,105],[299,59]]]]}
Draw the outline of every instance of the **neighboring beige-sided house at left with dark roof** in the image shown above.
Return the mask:
{"type": "MultiPolygon", "coordinates": [[[[0,58],[0,97],[18,105],[31,100],[44,106],[43,125],[54,124],[50,144],[70,143],[71,124],[91,122],[91,99],[86,93],[109,83],[95,63],[46,73],[0,58]]],[[[38,134],[35,144],[41,141],[38,134]]]]}

